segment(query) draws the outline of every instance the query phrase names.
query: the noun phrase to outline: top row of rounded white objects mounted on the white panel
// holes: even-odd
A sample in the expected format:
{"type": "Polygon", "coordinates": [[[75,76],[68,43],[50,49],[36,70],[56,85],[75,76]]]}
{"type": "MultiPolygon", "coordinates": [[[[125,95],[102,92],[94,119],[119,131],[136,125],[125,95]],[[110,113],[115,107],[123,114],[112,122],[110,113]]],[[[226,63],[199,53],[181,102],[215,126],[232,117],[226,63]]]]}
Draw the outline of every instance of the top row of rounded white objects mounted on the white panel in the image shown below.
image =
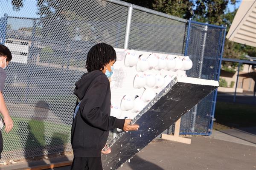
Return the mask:
{"type": "Polygon", "coordinates": [[[149,54],[140,56],[135,51],[129,51],[125,56],[125,66],[133,67],[136,65],[138,72],[144,72],[148,69],[155,70],[189,70],[193,63],[189,56],[175,56],[175,55],[156,55],[149,54]]]}

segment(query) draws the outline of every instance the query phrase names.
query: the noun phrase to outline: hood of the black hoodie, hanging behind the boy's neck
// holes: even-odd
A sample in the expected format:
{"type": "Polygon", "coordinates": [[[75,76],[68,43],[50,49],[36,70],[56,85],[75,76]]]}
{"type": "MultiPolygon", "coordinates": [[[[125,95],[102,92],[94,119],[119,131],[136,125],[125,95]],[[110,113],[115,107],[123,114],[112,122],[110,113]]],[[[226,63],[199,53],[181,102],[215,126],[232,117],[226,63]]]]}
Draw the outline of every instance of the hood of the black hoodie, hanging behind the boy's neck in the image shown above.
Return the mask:
{"type": "Polygon", "coordinates": [[[93,80],[101,74],[103,74],[102,71],[91,71],[82,75],[81,79],[76,82],[74,94],[79,98],[79,100],[83,99],[84,94],[89,88],[91,82],[93,82],[93,80]]]}

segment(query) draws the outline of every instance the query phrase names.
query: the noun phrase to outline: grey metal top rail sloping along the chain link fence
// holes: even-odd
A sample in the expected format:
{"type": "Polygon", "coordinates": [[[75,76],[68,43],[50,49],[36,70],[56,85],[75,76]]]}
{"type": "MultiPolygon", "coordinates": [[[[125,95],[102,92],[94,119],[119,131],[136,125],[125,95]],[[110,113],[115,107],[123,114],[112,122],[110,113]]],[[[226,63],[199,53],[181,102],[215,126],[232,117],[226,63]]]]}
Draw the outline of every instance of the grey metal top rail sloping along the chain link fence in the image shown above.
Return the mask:
{"type": "Polygon", "coordinates": [[[137,5],[134,5],[134,4],[131,4],[131,3],[126,3],[126,2],[123,2],[123,1],[120,1],[120,0],[106,0],[106,1],[111,2],[111,3],[116,3],[116,4],[119,4],[119,5],[122,5],[122,6],[132,7],[134,9],[137,9],[137,10],[140,10],[140,11],[145,11],[145,12],[150,13],[150,14],[155,14],[155,15],[158,15],[160,17],[165,17],[165,18],[168,18],[168,19],[177,20],[177,21],[180,21],[182,23],[188,23],[188,20],[186,20],[186,19],[175,17],[175,16],[172,16],[172,15],[169,15],[169,14],[165,14],[163,12],[154,11],[152,9],[144,8],[144,7],[137,6],[137,5]]]}

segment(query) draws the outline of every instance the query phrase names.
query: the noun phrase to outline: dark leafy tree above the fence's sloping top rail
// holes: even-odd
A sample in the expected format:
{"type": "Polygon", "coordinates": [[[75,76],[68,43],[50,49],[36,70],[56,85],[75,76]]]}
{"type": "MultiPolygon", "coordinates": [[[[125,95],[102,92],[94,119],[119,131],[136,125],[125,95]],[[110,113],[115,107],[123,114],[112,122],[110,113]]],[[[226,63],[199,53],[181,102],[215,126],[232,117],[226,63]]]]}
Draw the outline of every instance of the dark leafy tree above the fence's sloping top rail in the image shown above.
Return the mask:
{"type": "MultiPolygon", "coordinates": [[[[230,0],[124,0],[145,8],[203,23],[223,24],[225,10],[230,0]]],[[[236,0],[231,0],[232,4],[236,0]]]]}

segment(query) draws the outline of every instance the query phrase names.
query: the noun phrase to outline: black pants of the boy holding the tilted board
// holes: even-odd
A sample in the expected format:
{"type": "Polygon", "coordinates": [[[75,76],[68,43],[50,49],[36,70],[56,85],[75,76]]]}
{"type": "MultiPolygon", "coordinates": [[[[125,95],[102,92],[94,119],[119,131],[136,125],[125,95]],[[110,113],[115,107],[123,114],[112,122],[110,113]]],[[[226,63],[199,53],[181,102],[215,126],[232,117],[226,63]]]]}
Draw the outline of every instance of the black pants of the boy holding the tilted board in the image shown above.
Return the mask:
{"type": "Polygon", "coordinates": [[[74,158],[71,170],[103,170],[101,157],[74,158]]]}

